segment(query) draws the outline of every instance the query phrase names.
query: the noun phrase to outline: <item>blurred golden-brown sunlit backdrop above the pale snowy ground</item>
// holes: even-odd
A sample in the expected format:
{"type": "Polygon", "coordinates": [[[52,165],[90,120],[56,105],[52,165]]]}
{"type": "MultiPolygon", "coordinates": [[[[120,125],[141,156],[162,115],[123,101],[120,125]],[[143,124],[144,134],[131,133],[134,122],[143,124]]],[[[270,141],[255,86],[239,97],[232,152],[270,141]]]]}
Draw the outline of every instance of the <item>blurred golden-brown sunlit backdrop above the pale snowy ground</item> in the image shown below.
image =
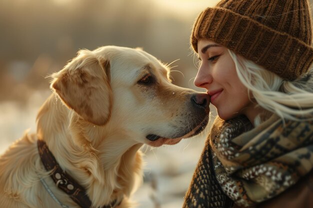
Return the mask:
{"type": "Polygon", "coordinates": [[[0,99],[25,101],[48,88],[78,49],[142,47],[178,65],[175,84],[193,87],[189,34],[214,0],[0,0],[0,99]]]}

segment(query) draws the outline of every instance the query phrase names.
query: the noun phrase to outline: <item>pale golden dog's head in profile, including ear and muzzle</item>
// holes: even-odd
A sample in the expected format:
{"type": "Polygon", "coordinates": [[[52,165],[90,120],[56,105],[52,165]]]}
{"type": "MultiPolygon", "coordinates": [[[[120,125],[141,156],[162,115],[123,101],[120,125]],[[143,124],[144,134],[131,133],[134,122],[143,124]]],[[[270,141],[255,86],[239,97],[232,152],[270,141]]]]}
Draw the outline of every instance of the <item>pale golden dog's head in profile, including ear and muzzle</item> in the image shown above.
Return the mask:
{"type": "Polygon", "coordinates": [[[208,121],[209,96],[171,83],[169,69],[141,49],[80,50],[51,88],[90,125],[151,146],[175,144],[208,121]]]}

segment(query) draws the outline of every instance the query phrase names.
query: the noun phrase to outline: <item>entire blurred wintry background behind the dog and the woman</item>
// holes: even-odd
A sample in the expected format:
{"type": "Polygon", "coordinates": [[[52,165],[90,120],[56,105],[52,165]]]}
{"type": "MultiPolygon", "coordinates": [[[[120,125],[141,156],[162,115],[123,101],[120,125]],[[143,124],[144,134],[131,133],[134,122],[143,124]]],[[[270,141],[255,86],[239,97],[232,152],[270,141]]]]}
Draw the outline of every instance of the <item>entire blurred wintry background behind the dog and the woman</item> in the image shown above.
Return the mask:
{"type": "MultiPolygon", "coordinates": [[[[82,48],[142,47],[164,63],[176,60],[174,84],[201,91],[193,86],[189,35],[197,14],[216,2],[0,0],[0,154],[26,129],[35,131],[37,110],[51,93],[45,77],[82,48]]],[[[133,196],[138,208],[181,207],[204,139],[205,133],[175,146],[143,147],[144,183],[133,196]]]]}

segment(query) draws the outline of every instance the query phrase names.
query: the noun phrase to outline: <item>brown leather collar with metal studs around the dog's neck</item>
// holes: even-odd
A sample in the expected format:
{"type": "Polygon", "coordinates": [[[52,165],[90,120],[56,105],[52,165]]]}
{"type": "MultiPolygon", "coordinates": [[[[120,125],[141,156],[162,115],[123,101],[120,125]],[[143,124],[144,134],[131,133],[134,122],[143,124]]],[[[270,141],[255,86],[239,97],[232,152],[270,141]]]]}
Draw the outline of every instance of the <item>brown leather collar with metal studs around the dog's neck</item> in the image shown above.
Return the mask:
{"type": "MultiPolygon", "coordinates": [[[[41,162],[45,170],[52,171],[50,177],[56,187],[65,192],[81,208],[91,208],[91,201],[86,194],[86,190],[60,168],[45,142],[37,140],[37,146],[41,162]]],[[[121,201],[117,203],[114,200],[102,208],[115,208],[120,203],[121,201]]]]}

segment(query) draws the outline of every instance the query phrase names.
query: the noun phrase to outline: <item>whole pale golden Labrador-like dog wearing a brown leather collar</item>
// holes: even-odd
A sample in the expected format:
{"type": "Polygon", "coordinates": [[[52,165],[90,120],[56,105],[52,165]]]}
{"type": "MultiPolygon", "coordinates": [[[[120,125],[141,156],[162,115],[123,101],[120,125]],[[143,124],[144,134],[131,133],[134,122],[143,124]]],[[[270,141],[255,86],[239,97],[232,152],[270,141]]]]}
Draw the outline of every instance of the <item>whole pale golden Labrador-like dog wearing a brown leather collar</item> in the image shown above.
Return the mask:
{"type": "Polygon", "coordinates": [[[1,208],[132,207],[140,147],[177,144],[208,122],[209,96],[172,84],[139,48],[83,49],[50,77],[36,133],[0,157],[1,208]]]}

